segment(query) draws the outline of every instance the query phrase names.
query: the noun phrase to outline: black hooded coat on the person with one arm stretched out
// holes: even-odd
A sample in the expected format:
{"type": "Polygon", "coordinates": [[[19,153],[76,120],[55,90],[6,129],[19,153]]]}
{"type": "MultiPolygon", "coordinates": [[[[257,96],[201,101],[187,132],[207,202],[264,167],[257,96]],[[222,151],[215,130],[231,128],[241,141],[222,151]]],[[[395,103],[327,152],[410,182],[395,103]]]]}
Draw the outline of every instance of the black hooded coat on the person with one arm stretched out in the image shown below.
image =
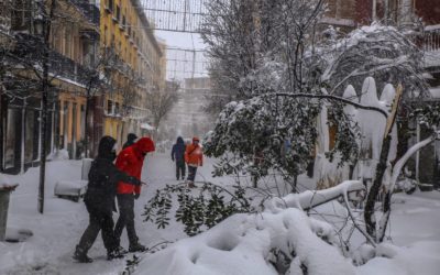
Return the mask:
{"type": "Polygon", "coordinates": [[[89,183],[84,198],[88,207],[100,209],[110,215],[114,206],[117,185],[120,180],[124,180],[131,186],[141,185],[138,178],[119,170],[114,166],[114,143],[116,140],[111,136],[103,136],[99,142],[98,156],[91,163],[88,175],[89,183]]]}

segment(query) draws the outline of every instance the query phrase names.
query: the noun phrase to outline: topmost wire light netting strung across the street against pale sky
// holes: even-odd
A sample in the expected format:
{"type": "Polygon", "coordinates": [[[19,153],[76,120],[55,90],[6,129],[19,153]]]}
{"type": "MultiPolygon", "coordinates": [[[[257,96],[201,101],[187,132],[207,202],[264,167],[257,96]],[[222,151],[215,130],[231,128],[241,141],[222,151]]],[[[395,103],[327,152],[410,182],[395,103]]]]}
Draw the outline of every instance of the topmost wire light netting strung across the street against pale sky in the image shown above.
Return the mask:
{"type": "Polygon", "coordinates": [[[141,0],[155,30],[198,33],[209,0],[141,0]]]}

